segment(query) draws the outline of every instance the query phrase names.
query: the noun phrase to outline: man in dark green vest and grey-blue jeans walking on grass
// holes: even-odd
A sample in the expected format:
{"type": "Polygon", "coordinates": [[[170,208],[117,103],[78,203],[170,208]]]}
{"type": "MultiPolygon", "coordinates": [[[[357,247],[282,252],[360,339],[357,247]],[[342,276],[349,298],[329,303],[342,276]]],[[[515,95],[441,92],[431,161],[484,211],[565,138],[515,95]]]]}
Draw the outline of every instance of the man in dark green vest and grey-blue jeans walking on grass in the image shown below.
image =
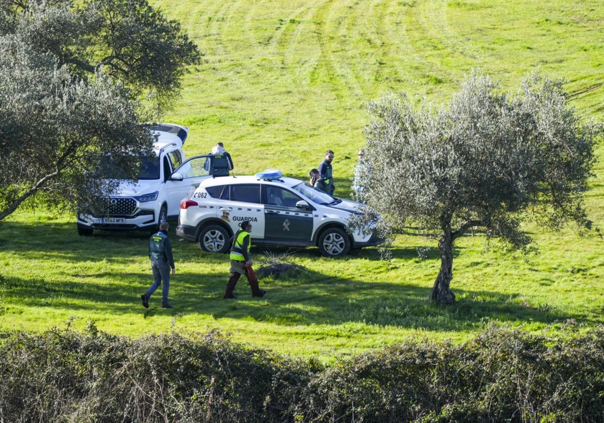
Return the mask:
{"type": "Polygon", "coordinates": [[[159,224],[159,231],[153,234],[149,239],[149,259],[151,260],[151,269],[153,271],[153,283],[149,286],[147,292],[141,295],[144,308],[149,308],[149,298],[151,297],[151,294],[153,294],[162,283],[161,307],[172,308],[168,303],[168,293],[170,292],[170,269],[172,269],[172,274],[176,274],[176,268],[172,255],[172,243],[168,237],[168,228],[168,222],[161,222],[159,224]]]}

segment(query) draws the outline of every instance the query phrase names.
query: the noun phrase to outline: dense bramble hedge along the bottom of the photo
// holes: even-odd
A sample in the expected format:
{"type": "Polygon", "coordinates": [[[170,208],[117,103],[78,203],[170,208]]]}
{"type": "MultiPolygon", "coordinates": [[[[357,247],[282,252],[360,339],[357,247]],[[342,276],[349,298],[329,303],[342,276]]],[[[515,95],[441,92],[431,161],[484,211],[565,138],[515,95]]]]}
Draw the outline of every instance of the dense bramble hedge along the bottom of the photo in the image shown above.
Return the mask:
{"type": "Polygon", "coordinates": [[[210,333],[4,333],[2,422],[601,422],[604,328],[492,328],[324,367],[210,333]]]}

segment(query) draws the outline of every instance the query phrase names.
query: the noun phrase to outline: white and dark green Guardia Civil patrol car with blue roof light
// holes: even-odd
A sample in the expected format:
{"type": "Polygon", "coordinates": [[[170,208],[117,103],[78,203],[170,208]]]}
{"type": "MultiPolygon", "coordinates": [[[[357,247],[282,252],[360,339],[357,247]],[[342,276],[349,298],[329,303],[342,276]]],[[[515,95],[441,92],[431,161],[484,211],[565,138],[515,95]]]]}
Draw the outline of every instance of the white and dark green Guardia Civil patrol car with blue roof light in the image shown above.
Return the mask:
{"type": "Polygon", "coordinates": [[[383,242],[371,228],[347,230],[361,206],[268,169],[195,182],[181,201],[176,234],[204,251],[226,253],[240,222],[248,220],[252,245],[316,246],[324,256],[336,257],[383,242]]]}

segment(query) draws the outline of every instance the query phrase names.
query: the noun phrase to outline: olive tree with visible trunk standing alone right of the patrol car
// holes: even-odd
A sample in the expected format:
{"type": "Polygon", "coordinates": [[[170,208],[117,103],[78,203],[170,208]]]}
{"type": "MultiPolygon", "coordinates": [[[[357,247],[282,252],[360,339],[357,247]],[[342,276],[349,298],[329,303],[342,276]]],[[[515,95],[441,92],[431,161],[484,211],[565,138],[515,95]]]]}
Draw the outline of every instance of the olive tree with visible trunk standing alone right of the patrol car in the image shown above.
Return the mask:
{"type": "Polygon", "coordinates": [[[440,108],[414,108],[405,94],[368,106],[368,205],[387,230],[413,222],[438,237],[436,303],[455,302],[453,248],[471,228],[525,248],[527,219],[551,228],[567,221],[591,227],[583,193],[602,126],[580,123],[562,84],[534,73],[507,95],[474,72],[440,108]]]}

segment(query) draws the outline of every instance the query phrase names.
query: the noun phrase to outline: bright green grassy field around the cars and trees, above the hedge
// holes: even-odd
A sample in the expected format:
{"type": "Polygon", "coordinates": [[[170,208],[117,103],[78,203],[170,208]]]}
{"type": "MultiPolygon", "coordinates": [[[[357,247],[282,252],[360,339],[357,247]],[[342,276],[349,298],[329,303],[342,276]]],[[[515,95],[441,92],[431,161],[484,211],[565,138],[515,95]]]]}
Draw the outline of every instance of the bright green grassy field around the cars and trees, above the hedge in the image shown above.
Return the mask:
{"type": "MultiPolygon", "coordinates": [[[[364,105],[388,91],[446,101],[472,68],[506,91],[533,69],[565,77],[570,104],[585,118],[604,117],[600,2],[151,3],[179,19],[204,53],[165,120],[190,128],[188,155],[223,141],[239,174],[276,167],[306,179],[330,148],[336,195],[348,197],[364,144],[364,105]]],[[[595,172],[586,202],[604,228],[602,163],[595,172]]],[[[144,309],[147,234],[81,238],[74,216],[16,213],[0,227],[0,329],[83,328],[89,320],[132,337],[218,329],[236,341],[330,361],[408,338],[463,341],[491,324],[542,331],[567,319],[604,320],[603,242],[573,227],[529,227],[540,253],[526,259],[487,249],[480,233],[464,237],[452,281],[458,304],[440,308],[426,300],[440,265],[436,244],[413,230],[396,239],[390,262],[374,248],[342,260],[324,259],[316,248],[294,251],[306,271],[261,280],[265,299],[252,299],[242,281],[240,298],[225,301],[227,257],[179,242],[174,226],[175,309],[159,308],[159,291],[144,309]]],[[[265,251],[252,253],[262,263],[265,251]]]]}

